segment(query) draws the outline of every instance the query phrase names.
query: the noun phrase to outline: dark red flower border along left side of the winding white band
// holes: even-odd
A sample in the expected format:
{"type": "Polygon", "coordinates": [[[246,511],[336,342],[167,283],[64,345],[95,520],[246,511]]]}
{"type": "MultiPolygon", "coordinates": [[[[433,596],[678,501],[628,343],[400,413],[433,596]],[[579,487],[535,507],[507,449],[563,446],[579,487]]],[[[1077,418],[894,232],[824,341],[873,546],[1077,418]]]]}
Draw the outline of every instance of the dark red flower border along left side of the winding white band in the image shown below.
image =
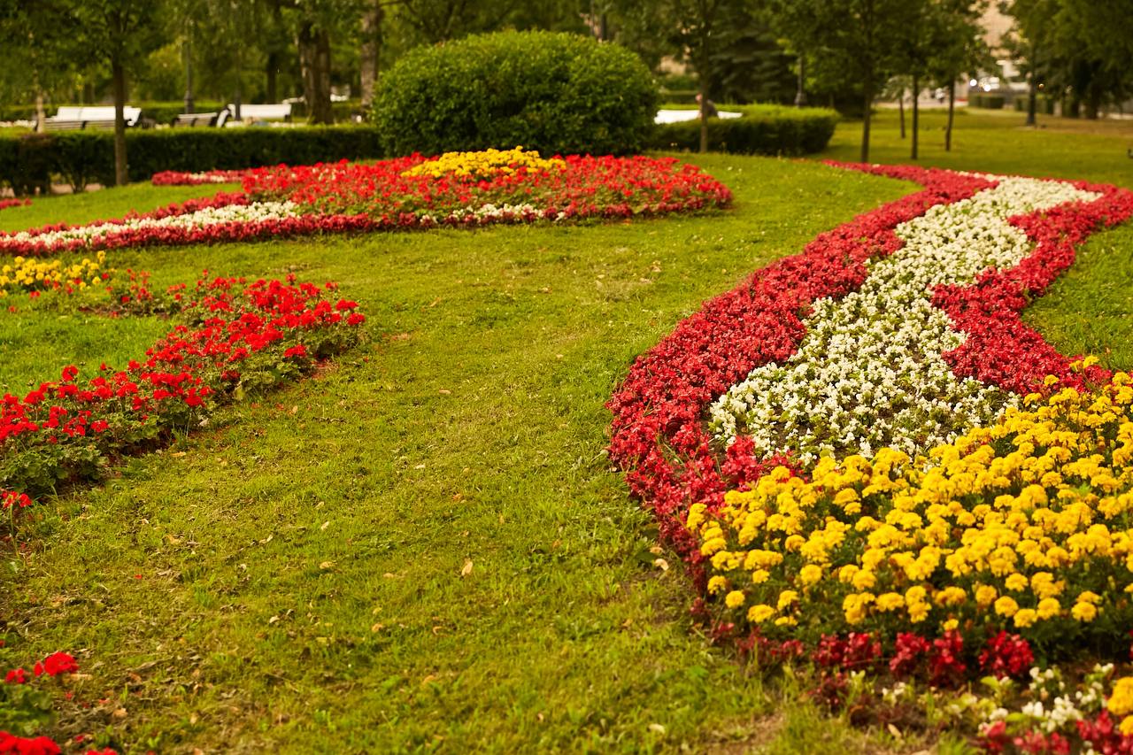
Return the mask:
{"type": "Polygon", "coordinates": [[[861,286],[868,260],[901,247],[894,234],[898,223],[991,186],[944,170],[905,167],[900,172],[927,188],[821,234],[802,254],[769,264],[706,303],[638,357],[607,404],[614,413],[611,457],[698,580],[701,557],[684,528],[688,507],[716,508],[730,484],[756,480],[784,461],[755,459],[750,443],[736,441],[722,473],[701,421],[705,408],[753,368],[790,357],[804,334],[802,319],[811,303],[861,286]]]}

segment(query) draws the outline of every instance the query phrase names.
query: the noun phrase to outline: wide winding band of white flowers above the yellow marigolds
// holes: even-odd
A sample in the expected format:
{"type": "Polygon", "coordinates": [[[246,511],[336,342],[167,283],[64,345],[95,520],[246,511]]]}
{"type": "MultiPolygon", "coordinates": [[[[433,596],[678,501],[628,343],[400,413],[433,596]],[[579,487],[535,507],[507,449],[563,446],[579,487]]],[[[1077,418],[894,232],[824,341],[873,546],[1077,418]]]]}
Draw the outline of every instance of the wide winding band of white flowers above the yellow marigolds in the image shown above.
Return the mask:
{"type": "Polygon", "coordinates": [[[898,226],[904,246],[871,263],[858,291],[816,302],[785,364],[756,368],[713,404],[716,436],[750,435],[757,455],[790,449],[810,465],[883,447],[915,455],[994,421],[1014,398],[952,374],[943,354],[964,337],[932,306],[932,290],[1019,264],[1031,246],[1010,217],[1098,197],[1059,181],[997,180],[898,226]]]}

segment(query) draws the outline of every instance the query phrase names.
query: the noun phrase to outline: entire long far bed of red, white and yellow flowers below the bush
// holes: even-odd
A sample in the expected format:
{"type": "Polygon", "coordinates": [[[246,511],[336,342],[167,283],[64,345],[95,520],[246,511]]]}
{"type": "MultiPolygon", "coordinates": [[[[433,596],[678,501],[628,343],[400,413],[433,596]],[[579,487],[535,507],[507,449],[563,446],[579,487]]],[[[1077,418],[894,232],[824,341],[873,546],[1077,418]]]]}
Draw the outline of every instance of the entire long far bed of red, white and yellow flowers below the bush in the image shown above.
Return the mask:
{"type": "Polygon", "coordinates": [[[725,207],[727,188],[671,158],[543,160],[511,151],[420,155],[374,164],[317,164],[157,175],[161,184],[222,183],[241,176],[244,193],[194,200],[156,212],[86,226],[0,234],[0,254],[404,230],[536,221],[568,222],[725,207]]]}

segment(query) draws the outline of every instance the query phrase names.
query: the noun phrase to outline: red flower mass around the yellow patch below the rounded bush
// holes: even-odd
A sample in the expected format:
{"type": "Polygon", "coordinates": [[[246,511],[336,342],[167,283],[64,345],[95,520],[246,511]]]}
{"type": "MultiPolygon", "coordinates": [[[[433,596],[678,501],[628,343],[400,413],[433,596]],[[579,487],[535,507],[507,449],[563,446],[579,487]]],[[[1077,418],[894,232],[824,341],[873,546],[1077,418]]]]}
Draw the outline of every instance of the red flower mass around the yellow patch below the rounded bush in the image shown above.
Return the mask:
{"type": "Polygon", "coordinates": [[[725,206],[732,201],[723,184],[673,158],[568,155],[561,160],[562,169],[520,166],[491,178],[404,175],[425,162],[419,154],[373,164],[343,160],[249,170],[244,188],[256,200],[290,200],[324,214],[366,214],[382,228],[404,226],[408,218],[420,224],[630,218],[725,206]],[[527,205],[534,211],[466,212],[489,205],[527,205]]]}

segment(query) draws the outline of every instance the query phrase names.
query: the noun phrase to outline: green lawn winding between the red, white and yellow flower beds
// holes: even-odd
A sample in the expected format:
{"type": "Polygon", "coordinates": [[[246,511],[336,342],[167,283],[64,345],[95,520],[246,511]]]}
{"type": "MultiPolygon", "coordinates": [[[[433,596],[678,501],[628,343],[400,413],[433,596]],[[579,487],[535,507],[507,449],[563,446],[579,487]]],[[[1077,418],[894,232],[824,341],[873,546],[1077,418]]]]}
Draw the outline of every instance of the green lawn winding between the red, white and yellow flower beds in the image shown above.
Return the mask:
{"type": "MultiPolygon", "coordinates": [[[[830,156],[852,156],[852,130],[830,156]]],[[[991,147],[964,163],[963,144],[956,167],[1117,180],[1091,172],[1097,155],[1074,172],[1007,139],[995,164],[991,147]]],[[[768,684],[691,629],[676,557],[653,551],[649,518],[610,468],[603,407],[701,300],[913,187],[807,161],[696,162],[734,190],[733,211],[110,255],[156,285],[202,268],[333,279],[370,340],[102,487],[44,502],[23,533],[32,548],[3,555],[0,667],[70,650],[91,675],[77,701],[94,703],[48,733],[104,732],[131,753],[923,745],[823,718],[790,680],[768,684]]],[[[43,200],[0,226],[211,190],[43,200]]],[[[1097,237],[1032,322],[1063,349],[1108,346],[1133,364],[1131,255],[1128,227],[1097,237]]],[[[43,379],[76,358],[120,364],[160,326],[92,338],[58,316],[2,314],[0,383],[12,385],[36,363],[43,379]]]]}

